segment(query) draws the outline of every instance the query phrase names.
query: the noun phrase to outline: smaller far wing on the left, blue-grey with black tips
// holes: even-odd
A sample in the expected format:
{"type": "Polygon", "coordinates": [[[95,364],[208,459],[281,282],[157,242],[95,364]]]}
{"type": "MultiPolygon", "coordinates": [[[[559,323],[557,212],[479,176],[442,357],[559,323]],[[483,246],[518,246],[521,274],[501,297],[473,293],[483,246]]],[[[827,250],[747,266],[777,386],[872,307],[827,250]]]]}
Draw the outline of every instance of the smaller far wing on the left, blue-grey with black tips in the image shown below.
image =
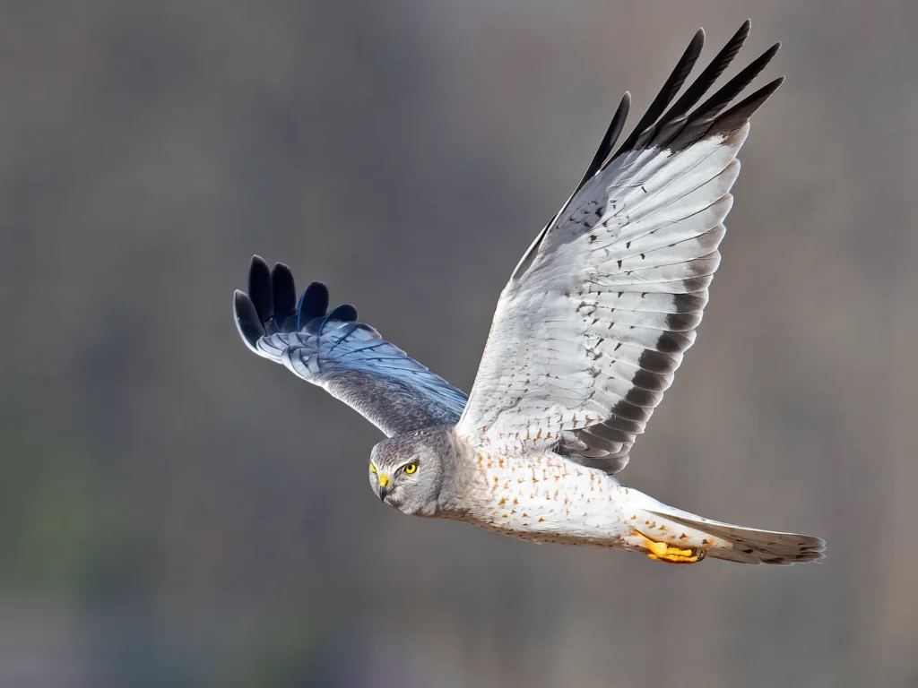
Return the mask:
{"type": "Polygon", "coordinates": [[[252,258],[249,294],[237,291],[236,326],[246,345],[283,363],[352,406],[388,437],[420,427],[454,425],[466,396],[404,351],[357,322],[353,305],[327,313],[329,290],[313,282],[297,303],[293,274],[252,258]]]}

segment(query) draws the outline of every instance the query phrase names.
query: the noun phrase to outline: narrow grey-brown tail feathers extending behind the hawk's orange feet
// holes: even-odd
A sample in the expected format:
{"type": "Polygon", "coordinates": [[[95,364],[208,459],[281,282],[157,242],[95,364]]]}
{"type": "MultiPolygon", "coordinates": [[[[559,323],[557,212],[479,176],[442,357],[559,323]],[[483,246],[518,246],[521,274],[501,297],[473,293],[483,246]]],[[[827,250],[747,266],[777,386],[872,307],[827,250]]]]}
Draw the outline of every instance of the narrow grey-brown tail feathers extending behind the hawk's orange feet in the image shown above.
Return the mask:
{"type": "Polygon", "coordinates": [[[744,564],[796,564],[821,560],[825,556],[825,541],[811,535],[733,526],[679,509],[650,513],[712,536],[714,544],[705,554],[715,559],[744,564]]]}

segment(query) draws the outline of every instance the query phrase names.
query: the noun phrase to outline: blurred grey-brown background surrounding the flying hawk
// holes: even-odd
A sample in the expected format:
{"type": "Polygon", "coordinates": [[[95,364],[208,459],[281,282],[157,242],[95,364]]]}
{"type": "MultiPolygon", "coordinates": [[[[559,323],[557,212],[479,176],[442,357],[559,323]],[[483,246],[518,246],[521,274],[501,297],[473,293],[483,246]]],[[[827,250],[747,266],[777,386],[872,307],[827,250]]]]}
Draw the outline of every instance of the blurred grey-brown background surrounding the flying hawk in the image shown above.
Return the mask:
{"type": "MultiPolygon", "coordinates": [[[[0,4],[0,685],[918,685],[913,3],[0,4]],[[788,82],[621,474],[829,542],[662,566],[379,505],[381,436],[243,347],[252,253],[468,390],[621,92],[699,26],[788,82]]],[[[731,72],[736,71],[733,68],[731,72]]],[[[636,121],[636,120],[632,120],[636,121]]]]}

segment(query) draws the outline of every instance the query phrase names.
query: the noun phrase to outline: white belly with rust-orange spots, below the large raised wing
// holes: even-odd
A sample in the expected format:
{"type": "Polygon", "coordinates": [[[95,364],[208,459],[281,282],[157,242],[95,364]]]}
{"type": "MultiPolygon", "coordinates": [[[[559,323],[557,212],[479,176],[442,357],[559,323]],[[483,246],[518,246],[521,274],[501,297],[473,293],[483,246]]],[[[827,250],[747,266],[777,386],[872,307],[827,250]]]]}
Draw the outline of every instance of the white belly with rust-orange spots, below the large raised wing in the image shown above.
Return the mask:
{"type": "Polygon", "coordinates": [[[537,542],[622,547],[628,488],[556,454],[481,457],[481,481],[466,520],[537,542]]]}

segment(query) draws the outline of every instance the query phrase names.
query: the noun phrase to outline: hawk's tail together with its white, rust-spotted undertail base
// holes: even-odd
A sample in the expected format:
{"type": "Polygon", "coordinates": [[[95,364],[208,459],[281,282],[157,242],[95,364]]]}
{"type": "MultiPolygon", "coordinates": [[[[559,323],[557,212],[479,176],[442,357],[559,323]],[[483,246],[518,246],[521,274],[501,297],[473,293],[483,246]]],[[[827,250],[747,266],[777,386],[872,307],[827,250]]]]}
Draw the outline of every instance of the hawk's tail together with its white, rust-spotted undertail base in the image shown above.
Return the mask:
{"type": "Polygon", "coordinates": [[[700,554],[699,560],[712,557],[743,564],[796,564],[824,556],[825,541],[821,538],[734,526],[650,501],[653,504],[637,510],[634,529],[644,538],[666,542],[673,548],[693,548],[700,554]]]}

